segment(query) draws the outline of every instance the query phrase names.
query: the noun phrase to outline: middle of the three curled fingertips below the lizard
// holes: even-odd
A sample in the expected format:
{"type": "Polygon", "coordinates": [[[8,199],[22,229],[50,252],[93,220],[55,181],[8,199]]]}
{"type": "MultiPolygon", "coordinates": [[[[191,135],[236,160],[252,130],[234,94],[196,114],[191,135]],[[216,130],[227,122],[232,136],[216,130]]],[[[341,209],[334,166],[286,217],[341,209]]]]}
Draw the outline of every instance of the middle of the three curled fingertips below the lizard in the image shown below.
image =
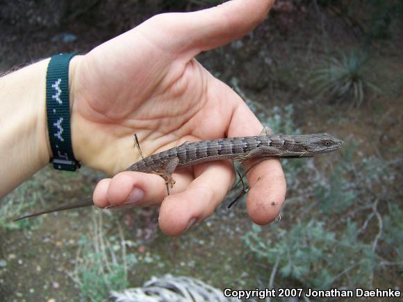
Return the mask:
{"type": "Polygon", "coordinates": [[[161,204],[159,225],[167,235],[179,235],[211,216],[235,179],[229,162],[206,163],[194,169],[199,174],[195,181],[183,192],[167,196],[161,204]]]}

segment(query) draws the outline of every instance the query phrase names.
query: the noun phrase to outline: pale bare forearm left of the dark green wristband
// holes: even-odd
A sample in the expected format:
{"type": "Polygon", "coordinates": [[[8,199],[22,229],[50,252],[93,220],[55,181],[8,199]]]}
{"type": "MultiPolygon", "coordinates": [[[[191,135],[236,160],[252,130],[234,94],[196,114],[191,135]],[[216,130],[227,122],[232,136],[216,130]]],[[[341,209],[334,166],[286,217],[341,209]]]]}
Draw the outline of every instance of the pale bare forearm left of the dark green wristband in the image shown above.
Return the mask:
{"type": "Polygon", "coordinates": [[[0,197],[51,158],[46,117],[49,59],[0,78],[0,197]]]}

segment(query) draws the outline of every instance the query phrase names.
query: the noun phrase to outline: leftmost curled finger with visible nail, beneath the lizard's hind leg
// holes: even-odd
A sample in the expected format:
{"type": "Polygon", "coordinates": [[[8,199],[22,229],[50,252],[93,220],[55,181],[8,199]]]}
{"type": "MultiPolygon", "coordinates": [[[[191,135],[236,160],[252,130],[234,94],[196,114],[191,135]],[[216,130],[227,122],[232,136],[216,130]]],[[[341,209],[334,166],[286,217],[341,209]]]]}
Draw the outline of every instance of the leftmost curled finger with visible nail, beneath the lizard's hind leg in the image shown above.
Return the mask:
{"type": "MultiPolygon", "coordinates": [[[[171,194],[185,190],[193,179],[189,171],[175,173],[173,178],[176,183],[170,188],[171,194]]],[[[124,171],[97,185],[94,191],[94,204],[101,208],[122,204],[145,207],[159,205],[165,196],[167,187],[161,176],[124,171]]]]}

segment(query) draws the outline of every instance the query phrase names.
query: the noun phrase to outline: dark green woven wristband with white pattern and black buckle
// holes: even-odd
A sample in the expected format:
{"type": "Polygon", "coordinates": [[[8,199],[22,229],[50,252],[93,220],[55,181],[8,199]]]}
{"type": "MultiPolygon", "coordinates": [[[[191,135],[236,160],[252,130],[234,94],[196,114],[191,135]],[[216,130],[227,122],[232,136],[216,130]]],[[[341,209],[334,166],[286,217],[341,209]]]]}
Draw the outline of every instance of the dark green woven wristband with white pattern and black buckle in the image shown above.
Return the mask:
{"type": "Polygon", "coordinates": [[[76,171],[80,163],[74,158],[70,131],[69,62],[76,53],[52,56],[47,67],[46,107],[49,142],[54,168],[76,171]]]}

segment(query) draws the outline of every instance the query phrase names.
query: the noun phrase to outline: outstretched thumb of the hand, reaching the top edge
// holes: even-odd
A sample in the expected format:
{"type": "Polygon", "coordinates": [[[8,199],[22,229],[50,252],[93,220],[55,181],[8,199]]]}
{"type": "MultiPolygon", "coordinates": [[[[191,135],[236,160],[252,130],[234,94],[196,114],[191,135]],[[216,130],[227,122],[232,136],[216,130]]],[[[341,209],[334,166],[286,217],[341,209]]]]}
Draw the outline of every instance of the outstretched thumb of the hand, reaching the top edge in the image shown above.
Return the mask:
{"type": "Polygon", "coordinates": [[[157,15],[149,19],[151,26],[146,26],[145,31],[152,31],[154,37],[159,35],[156,40],[163,41],[163,46],[169,46],[174,53],[189,52],[192,58],[252,31],[265,19],[273,3],[274,0],[233,0],[197,12],[157,15]]]}

